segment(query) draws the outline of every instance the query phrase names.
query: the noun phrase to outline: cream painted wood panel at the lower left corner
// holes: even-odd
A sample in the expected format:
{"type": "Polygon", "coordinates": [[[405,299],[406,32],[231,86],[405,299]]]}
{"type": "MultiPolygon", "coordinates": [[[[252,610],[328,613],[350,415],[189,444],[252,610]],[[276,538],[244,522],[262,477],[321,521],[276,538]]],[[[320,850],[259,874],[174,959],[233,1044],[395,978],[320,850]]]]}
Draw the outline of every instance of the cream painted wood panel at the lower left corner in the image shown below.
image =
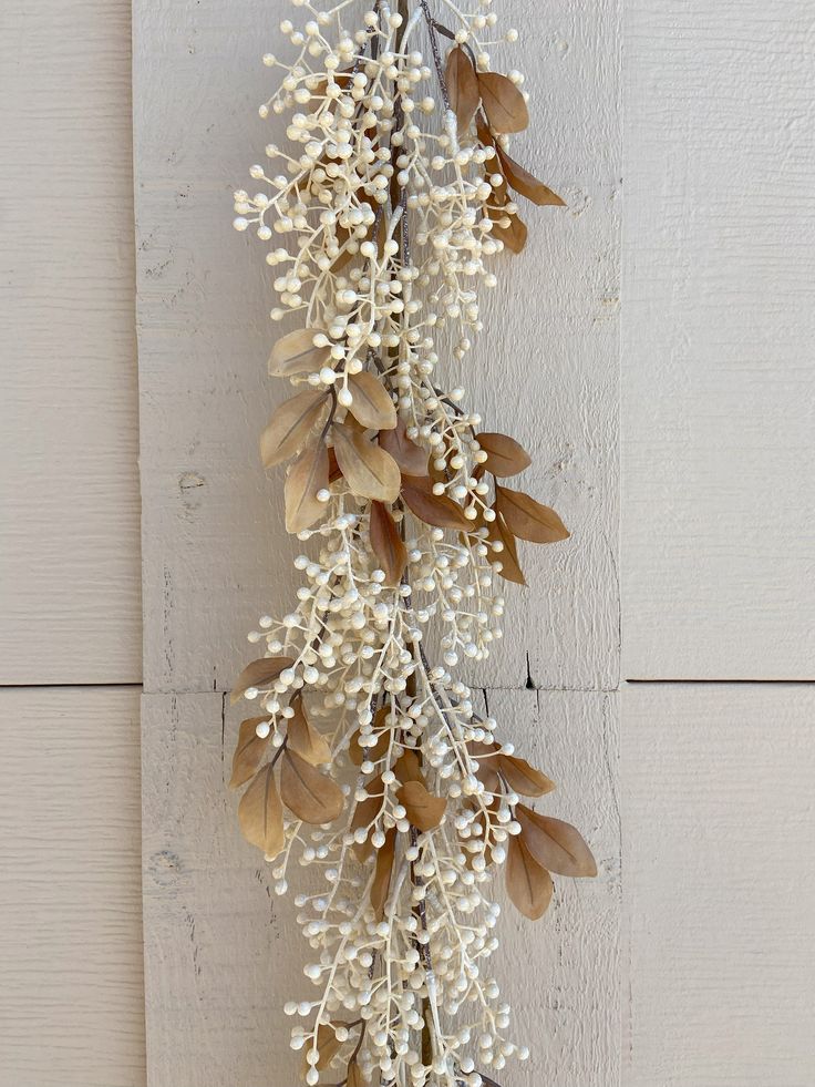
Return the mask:
{"type": "Polygon", "coordinates": [[[144,1087],[138,689],[0,690],[0,1081],[144,1087]]]}

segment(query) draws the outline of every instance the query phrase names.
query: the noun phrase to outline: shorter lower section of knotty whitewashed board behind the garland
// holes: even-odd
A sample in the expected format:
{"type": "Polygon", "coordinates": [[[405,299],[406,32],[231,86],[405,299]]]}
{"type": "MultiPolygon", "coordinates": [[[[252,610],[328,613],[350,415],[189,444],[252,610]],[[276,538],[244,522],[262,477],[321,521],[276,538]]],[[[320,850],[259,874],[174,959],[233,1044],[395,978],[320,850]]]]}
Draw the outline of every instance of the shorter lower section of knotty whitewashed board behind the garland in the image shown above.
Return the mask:
{"type": "MultiPolygon", "coordinates": [[[[506,903],[496,972],[515,1033],[534,1048],[513,1087],[613,1087],[619,1079],[620,896],[616,696],[499,691],[504,735],[561,783],[546,801],[576,822],[600,875],[558,880],[547,919],[506,903]]],[[[238,714],[220,694],[143,700],[144,923],[149,1087],[280,1087],[298,1056],[281,1005],[306,997],[292,895],[240,838],[229,794],[238,714]]],[[[239,708],[239,707],[238,707],[239,708]]],[[[301,873],[302,875],[302,873],[301,873]]],[[[503,892],[502,892],[503,901],[503,892]]]]}

